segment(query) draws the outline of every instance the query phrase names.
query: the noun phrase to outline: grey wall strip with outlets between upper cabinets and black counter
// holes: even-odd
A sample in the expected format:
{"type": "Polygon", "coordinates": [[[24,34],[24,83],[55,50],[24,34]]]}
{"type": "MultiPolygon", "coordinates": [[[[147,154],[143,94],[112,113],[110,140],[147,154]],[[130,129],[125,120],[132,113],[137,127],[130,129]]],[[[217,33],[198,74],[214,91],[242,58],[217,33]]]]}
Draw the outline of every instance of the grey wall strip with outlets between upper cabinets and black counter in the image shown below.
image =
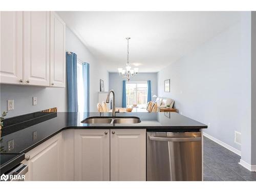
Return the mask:
{"type": "Polygon", "coordinates": [[[65,88],[41,88],[1,84],[1,113],[7,111],[7,100],[14,99],[14,110],[8,117],[32,113],[57,107],[58,111],[67,111],[65,88]],[[32,104],[32,97],[37,97],[37,105],[32,104]]]}

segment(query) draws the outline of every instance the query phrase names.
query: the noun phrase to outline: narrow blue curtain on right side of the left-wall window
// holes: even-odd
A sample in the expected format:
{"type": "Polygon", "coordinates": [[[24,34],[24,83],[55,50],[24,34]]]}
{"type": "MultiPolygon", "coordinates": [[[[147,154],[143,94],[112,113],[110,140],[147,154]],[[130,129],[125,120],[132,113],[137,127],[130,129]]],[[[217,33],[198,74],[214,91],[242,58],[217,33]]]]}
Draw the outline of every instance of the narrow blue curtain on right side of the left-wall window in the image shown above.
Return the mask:
{"type": "Polygon", "coordinates": [[[90,110],[90,65],[87,62],[83,63],[82,66],[82,77],[83,77],[83,85],[84,85],[84,112],[89,112],[90,110]]]}

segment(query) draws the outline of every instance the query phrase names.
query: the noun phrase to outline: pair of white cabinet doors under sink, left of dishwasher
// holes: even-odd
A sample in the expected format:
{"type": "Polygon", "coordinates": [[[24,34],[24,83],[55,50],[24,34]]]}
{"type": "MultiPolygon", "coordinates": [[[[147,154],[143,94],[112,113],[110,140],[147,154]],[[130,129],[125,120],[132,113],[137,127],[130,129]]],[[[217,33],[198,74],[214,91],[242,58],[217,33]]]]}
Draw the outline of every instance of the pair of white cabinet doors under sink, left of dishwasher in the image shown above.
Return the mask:
{"type": "Polygon", "coordinates": [[[75,130],[75,181],[145,181],[146,130],[75,130]]]}

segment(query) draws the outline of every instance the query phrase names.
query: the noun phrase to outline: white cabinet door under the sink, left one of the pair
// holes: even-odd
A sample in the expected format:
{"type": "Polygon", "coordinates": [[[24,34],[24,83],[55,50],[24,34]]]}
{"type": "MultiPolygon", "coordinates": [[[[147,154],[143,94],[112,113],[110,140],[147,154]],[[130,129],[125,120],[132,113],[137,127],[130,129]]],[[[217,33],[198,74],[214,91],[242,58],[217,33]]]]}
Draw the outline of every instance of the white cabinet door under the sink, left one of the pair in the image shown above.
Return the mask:
{"type": "Polygon", "coordinates": [[[110,130],[75,130],[75,181],[110,180],[110,130]]]}

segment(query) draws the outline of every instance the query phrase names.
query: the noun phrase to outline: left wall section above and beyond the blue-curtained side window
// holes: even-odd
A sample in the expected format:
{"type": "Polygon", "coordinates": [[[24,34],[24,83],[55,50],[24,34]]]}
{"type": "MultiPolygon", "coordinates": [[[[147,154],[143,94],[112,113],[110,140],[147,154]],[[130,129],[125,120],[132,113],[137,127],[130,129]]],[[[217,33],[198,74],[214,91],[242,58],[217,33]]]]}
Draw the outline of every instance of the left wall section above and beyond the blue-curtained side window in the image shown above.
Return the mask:
{"type": "Polygon", "coordinates": [[[109,90],[109,72],[101,65],[77,36],[66,28],[66,50],[77,54],[77,58],[90,63],[90,111],[98,111],[99,79],[104,80],[105,91],[109,90]]]}

